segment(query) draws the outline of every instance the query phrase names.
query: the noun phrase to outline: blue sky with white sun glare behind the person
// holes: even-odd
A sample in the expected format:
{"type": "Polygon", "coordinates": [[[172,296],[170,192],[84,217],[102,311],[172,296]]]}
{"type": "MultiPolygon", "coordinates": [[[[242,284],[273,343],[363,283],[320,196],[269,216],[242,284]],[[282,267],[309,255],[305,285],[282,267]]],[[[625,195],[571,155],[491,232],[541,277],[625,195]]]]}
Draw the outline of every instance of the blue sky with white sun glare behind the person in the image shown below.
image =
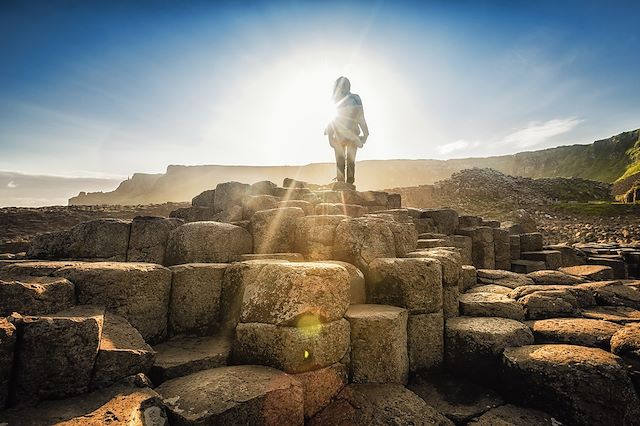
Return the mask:
{"type": "Polygon", "coordinates": [[[359,159],[588,143],[640,127],[637,1],[0,3],[0,170],[332,161],[347,76],[359,159]],[[329,105],[330,106],[330,105],[329,105]]]}

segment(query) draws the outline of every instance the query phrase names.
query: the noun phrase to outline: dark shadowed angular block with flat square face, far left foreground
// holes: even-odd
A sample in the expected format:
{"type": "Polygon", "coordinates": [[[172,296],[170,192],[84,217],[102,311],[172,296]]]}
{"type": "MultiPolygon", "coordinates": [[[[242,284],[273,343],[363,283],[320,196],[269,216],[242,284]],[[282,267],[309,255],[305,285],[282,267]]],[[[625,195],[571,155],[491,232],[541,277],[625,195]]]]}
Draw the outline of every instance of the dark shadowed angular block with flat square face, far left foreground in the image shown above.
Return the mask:
{"type": "Polygon", "coordinates": [[[17,319],[12,404],[87,392],[103,321],[104,309],[92,306],[17,319]]]}

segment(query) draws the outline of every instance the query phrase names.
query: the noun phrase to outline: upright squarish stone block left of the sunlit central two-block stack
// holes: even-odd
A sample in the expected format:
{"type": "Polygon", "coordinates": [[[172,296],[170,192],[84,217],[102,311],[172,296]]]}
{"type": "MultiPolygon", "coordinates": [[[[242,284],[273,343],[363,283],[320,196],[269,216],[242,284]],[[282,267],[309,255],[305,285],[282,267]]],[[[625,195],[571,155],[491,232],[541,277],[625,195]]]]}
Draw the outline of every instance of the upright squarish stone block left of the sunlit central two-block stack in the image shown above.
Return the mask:
{"type": "Polygon", "coordinates": [[[172,266],[169,334],[206,334],[220,315],[225,263],[187,263],[172,266]]]}

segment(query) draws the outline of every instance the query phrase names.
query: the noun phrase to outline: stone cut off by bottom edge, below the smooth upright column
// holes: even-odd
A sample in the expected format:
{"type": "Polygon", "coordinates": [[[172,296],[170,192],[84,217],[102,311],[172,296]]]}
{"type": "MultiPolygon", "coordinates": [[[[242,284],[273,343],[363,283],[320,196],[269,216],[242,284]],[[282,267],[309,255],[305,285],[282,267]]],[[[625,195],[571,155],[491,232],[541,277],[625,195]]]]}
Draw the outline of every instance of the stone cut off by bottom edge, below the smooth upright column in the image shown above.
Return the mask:
{"type": "Polygon", "coordinates": [[[404,386],[351,384],[309,425],[453,426],[453,422],[404,386]]]}

